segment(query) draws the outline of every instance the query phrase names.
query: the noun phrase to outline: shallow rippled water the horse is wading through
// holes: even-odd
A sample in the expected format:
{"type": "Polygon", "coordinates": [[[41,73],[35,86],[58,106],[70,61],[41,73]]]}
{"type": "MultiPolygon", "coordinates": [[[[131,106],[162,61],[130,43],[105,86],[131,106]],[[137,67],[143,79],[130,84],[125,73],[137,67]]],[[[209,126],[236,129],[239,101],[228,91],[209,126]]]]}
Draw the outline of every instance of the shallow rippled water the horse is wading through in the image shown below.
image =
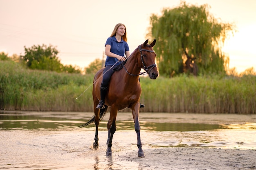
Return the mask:
{"type": "MultiPolygon", "coordinates": [[[[122,159],[137,157],[137,137],[131,113],[118,115],[112,157],[105,156],[109,115],[100,123],[98,150],[92,149],[94,126],[77,128],[92,115],[0,112],[0,169],[141,170],[138,163],[122,159]]],[[[154,148],[170,147],[256,150],[255,119],[243,124],[173,123],[166,121],[171,114],[163,114],[163,118],[159,115],[140,115],[146,156],[154,148]]],[[[193,115],[193,119],[199,119],[197,117],[200,115],[193,115]]]]}

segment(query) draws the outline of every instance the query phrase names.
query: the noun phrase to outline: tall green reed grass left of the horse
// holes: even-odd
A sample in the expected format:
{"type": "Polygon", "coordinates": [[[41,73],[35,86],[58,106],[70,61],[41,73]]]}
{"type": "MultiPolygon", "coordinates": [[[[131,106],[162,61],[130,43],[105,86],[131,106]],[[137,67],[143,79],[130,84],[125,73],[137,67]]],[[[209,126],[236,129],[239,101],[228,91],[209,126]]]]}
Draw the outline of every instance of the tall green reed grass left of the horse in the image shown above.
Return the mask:
{"type": "Polygon", "coordinates": [[[56,73],[0,61],[0,110],[91,111],[93,75],[56,73]]]}

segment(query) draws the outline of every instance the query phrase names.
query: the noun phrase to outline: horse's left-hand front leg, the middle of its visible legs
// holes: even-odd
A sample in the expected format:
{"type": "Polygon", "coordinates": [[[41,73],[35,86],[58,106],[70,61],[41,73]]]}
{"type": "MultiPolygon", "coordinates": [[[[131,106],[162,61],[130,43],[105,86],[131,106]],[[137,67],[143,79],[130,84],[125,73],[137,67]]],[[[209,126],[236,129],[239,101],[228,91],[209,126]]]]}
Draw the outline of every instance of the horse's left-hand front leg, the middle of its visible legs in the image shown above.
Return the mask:
{"type": "Polygon", "coordinates": [[[117,110],[111,108],[110,110],[110,117],[108,120],[108,141],[107,141],[107,151],[106,156],[112,156],[112,139],[113,135],[117,130],[116,126],[116,118],[117,118],[117,110]]]}

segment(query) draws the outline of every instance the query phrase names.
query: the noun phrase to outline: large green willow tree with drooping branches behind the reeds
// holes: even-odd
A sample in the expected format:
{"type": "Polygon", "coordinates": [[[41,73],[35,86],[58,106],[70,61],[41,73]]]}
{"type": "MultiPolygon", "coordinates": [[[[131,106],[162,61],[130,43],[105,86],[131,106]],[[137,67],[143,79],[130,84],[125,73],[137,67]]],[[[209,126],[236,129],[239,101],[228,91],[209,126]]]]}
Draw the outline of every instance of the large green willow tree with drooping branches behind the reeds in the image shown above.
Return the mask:
{"type": "Polygon", "coordinates": [[[210,15],[207,4],[198,7],[181,1],[179,7],[150,16],[149,34],[157,40],[159,73],[168,77],[187,71],[186,65],[196,66],[196,74],[225,73],[229,57],[221,47],[233,33],[234,25],[210,15]]]}

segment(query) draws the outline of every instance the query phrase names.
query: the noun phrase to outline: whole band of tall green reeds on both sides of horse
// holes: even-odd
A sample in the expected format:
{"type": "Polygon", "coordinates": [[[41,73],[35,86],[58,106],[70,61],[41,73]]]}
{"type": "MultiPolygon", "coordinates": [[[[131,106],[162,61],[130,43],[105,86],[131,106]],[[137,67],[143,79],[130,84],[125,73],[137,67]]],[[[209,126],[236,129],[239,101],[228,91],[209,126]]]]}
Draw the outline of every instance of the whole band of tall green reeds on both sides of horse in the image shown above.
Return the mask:
{"type": "MultiPolygon", "coordinates": [[[[0,61],[0,110],[92,112],[93,77],[0,61]]],[[[256,76],[141,77],[140,84],[141,112],[256,113],[256,76]]]]}

